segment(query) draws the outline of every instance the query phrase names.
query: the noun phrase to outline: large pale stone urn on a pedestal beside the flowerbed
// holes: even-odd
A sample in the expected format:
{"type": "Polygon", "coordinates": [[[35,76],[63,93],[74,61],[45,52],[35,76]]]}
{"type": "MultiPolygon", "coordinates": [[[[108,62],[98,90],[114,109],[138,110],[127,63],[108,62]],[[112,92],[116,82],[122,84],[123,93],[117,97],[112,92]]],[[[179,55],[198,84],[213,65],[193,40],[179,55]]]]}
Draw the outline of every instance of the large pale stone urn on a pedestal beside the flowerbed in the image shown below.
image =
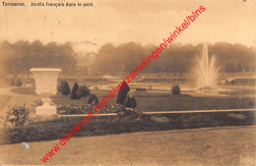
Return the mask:
{"type": "Polygon", "coordinates": [[[57,114],[56,106],[52,105],[50,96],[57,93],[57,79],[61,69],[32,68],[35,81],[35,92],[42,97],[43,105],[36,107],[35,115],[51,116],[57,114]]]}

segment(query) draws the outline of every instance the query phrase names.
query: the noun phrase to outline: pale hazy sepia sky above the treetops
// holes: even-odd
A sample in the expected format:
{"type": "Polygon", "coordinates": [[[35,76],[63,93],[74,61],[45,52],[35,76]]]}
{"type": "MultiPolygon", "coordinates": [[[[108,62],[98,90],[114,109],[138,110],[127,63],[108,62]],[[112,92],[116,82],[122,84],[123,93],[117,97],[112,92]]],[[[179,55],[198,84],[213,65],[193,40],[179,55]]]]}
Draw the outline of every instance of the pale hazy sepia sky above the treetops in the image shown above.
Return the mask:
{"type": "Polygon", "coordinates": [[[83,52],[107,42],[160,44],[187,15],[204,6],[206,11],[175,43],[255,43],[253,0],[96,0],[91,8],[31,7],[31,1],[25,2],[26,7],[3,7],[1,2],[0,40],[71,41],[83,52]]]}

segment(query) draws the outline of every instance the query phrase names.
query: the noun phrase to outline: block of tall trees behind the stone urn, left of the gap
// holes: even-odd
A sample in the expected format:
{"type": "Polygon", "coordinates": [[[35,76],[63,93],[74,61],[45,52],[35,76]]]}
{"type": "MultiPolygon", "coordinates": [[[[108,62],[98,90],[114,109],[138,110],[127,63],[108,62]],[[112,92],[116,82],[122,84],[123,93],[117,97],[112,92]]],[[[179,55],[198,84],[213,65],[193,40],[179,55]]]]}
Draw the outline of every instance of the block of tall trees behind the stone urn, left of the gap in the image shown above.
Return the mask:
{"type": "Polygon", "coordinates": [[[42,44],[36,40],[20,40],[16,43],[0,43],[1,72],[6,74],[28,74],[31,68],[61,68],[64,73],[76,71],[76,53],[70,43],[50,42],[42,44]]]}

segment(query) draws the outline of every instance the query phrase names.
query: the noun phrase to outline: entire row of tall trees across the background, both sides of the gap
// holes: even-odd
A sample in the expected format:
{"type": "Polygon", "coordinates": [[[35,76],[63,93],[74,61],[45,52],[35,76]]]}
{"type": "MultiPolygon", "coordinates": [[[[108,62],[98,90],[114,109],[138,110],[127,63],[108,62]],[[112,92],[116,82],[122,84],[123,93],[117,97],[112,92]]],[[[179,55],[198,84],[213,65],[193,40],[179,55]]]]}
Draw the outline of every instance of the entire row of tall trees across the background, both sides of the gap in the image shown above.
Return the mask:
{"type": "MultiPolygon", "coordinates": [[[[144,57],[156,49],[156,45],[141,45],[129,42],[114,46],[107,43],[99,48],[94,61],[85,62],[84,70],[99,71],[105,74],[127,73],[134,70],[144,57]],[[87,67],[88,66],[88,67],[87,67]],[[89,67],[90,66],[90,67],[89,67]]],[[[160,58],[147,67],[146,72],[186,73],[196,64],[196,56],[201,55],[202,44],[172,44],[160,53],[160,58]]],[[[255,48],[241,44],[209,44],[209,55],[216,55],[222,72],[255,71],[255,48]]],[[[78,54],[70,43],[50,42],[42,44],[39,40],[0,42],[0,71],[6,74],[28,74],[31,68],[61,68],[64,74],[73,75],[77,71],[78,54]]],[[[84,59],[85,61],[86,59],[84,59]]]]}

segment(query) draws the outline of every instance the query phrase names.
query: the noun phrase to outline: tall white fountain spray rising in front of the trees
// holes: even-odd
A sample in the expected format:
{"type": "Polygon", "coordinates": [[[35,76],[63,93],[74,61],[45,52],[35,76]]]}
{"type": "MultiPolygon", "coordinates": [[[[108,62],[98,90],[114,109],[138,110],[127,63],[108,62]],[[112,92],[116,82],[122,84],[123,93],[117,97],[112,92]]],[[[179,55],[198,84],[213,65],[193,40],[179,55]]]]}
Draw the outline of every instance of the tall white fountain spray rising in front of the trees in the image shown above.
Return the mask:
{"type": "Polygon", "coordinates": [[[208,46],[205,43],[201,58],[197,57],[197,87],[200,91],[213,91],[217,89],[219,67],[216,66],[215,55],[209,58],[208,46]]]}

